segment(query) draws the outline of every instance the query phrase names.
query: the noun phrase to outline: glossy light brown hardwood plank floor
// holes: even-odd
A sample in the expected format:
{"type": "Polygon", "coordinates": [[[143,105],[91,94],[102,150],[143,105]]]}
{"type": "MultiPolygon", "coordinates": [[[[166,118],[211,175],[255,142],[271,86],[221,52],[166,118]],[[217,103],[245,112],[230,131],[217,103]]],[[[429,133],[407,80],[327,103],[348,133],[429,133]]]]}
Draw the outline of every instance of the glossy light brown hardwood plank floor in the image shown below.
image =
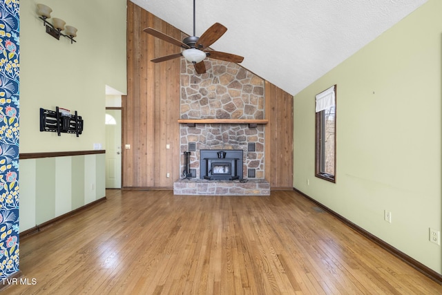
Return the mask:
{"type": "Polygon", "coordinates": [[[7,294],[441,294],[294,191],[108,200],[22,238],[7,294]],[[32,283],[36,283],[32,285],[32,283]]]}

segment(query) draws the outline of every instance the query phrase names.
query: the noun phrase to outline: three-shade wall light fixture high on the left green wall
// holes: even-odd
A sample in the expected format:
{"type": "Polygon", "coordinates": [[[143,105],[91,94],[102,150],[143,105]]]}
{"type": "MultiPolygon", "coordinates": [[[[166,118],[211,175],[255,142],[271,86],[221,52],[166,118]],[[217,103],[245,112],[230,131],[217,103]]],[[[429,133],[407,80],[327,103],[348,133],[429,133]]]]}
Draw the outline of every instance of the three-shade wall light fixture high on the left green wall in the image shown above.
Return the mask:
{"type": "Polygon", "coordinates": [[[50,12],[52,12],[50,7],[44,4],[37,4],[37,14],[39,15],[39,19],[43,20],[43,25],[46,26],[46,32],[57,40],[60,39],[60,36],[63,36],[70,39],[70,44],[77,42],[74,39],[74,37],[77,37],[77,28],[65,26],[66,22],[56,17],[52,18],[52,23],[48,22],[47,19],[50,19],[50,12]],[[64,30],[65,34],[61,32],[62,30],[64,30]]]}

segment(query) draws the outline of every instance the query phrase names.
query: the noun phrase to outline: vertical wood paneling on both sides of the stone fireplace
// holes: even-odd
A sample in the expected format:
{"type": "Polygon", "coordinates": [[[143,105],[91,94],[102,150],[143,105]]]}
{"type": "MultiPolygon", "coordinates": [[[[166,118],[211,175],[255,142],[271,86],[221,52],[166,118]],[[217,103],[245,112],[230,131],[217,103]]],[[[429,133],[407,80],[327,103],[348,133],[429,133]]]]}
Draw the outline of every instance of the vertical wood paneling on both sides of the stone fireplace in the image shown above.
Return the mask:
{"type": "MultiPolygon", "coordinates": [[[[151,59],[180,48],[143,32],[148,26],[181,39],[181,32],[128,1],[128,95],[123,99],[123,187],[171,189],[180,178],[180,59],[151,59]],[[131,149],[124,149],[130,144],[131,149]],[[166,149],[170,144],[170,149],[166,149]],[[170,178],[166,178],[170,173],[170,178]]],[[[247,58],[247,57],[245,57],[247,58]]],[[[293,97],[265,84],[265,178],[272,189],[293,187],[293,97]]]]}

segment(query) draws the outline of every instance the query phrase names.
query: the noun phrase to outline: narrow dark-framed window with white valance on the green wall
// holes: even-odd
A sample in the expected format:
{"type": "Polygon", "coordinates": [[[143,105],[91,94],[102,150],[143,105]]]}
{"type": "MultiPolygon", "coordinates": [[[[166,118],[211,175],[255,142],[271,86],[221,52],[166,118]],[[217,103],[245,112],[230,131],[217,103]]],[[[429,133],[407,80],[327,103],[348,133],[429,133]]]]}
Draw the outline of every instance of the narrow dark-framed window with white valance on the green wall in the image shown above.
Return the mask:
{"type": "Polygon", "coordinates": [[[315,175],[336,182],[336,85],[316,95],[315,175]]]}

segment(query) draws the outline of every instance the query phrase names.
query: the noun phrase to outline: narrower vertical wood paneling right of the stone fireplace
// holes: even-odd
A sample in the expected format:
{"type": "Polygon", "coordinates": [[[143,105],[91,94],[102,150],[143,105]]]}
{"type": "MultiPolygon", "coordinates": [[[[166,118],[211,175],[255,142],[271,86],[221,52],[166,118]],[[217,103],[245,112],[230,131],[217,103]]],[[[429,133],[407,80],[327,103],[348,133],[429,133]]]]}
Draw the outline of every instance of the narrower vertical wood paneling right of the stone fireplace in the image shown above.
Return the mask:
{"type": "Polygon", "coordinates": [[[271,189],[293,189],[293,96],[265,83],[265,178],[271,189]]]}

